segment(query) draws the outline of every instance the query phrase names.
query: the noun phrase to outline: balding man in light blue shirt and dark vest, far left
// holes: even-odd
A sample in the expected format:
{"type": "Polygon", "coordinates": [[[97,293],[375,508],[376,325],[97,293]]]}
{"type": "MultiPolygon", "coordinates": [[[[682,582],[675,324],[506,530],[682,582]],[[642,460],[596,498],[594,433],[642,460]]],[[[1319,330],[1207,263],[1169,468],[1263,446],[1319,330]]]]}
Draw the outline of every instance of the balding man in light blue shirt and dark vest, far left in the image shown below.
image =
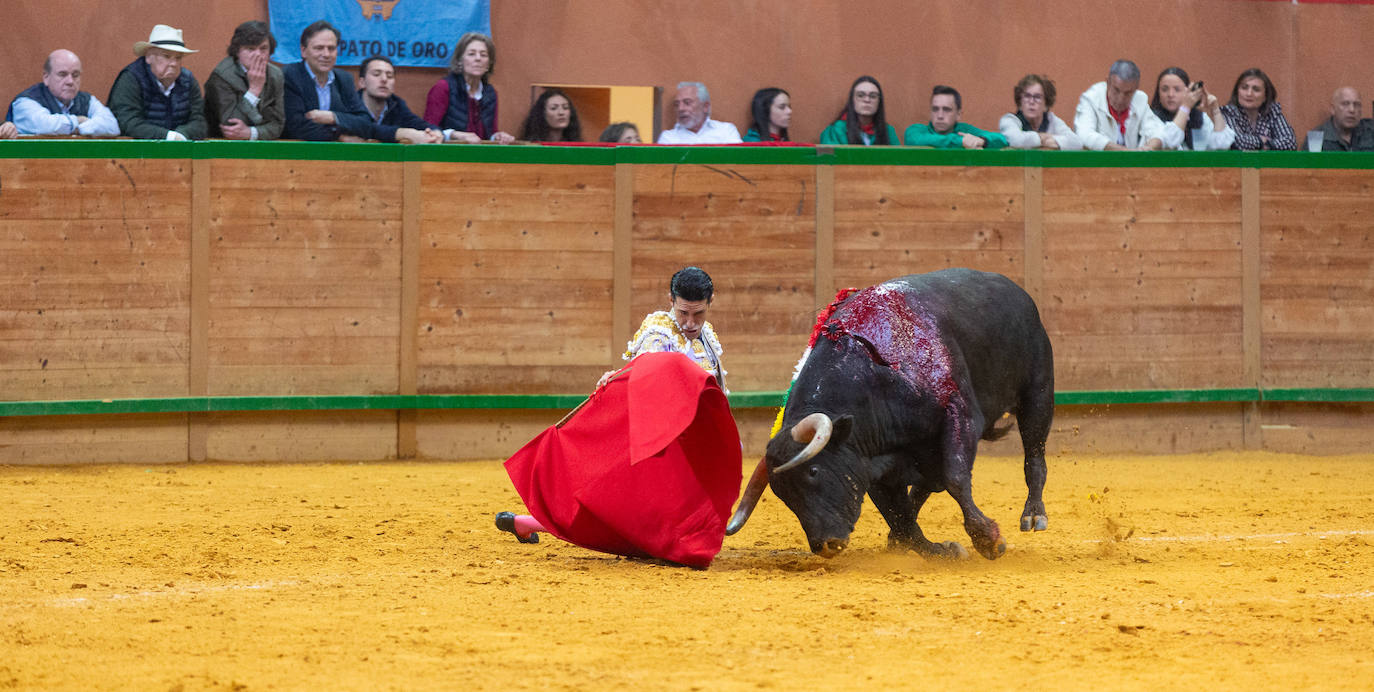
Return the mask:
{"type": "Polygon", "coordinates": [[[43,63],[43,81],[10,102],[5,121],[18,135],[118,135],[114,113],[81,91],[81,59],[56,49],[43,63]]]}

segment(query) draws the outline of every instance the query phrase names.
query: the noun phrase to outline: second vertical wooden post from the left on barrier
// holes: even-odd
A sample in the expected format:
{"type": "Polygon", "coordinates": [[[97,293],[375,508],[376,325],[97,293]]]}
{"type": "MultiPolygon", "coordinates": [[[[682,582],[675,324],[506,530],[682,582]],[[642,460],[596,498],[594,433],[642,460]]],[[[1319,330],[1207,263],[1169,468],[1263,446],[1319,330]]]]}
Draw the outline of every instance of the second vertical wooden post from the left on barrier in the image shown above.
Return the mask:
{"type": "MultiPolygon", "coordinates": [[[[397,394],[418,393],[419,290],[420,290],[420,174],[423,162],[401,163],[401,320],[397,358],[397,394]]],[[[415,459],[415,409],[396,412],[396,457],[415,459]]]]}

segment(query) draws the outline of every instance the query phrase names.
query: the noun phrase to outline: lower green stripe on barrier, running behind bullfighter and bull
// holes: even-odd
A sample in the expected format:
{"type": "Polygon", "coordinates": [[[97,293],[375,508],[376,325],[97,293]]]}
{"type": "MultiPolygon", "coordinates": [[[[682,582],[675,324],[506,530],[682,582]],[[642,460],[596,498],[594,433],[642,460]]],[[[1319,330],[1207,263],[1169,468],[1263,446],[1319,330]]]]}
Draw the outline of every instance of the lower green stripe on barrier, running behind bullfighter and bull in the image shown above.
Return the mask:
{"type": "MultiPolygon", "coordinates": [[[[785,391],[736,391],[734,408],[774,408],[785,391]]],[[[117,413],[212,413],[254,411],[453,411],[570,409],[583,394],[335,394],[271,397],[162,397],[122,400],[0,401],[0,416],[82,416],[117,413]]],[[[1374,402],[1374,389],[1198,389],[1058,391],[1061,406],[1113,404],[1374,402]]]]}

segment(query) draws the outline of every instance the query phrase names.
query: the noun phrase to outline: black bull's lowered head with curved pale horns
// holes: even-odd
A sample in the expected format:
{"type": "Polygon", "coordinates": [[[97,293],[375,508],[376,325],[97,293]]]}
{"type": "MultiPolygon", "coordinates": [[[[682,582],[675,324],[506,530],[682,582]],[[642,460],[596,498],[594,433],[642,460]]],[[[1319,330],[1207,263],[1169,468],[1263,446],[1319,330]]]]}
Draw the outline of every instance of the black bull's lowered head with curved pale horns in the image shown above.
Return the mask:
{"type": "Polygon", "coordinates": [[[852,431],[853,416],[831,420],[812,413],[768,441],[725,533],[745,526],[764,485],[771,485],[801,520],[811,552],[834,557],[844,551],[868,490],[859,454],[848,443],[852,431]]]}

